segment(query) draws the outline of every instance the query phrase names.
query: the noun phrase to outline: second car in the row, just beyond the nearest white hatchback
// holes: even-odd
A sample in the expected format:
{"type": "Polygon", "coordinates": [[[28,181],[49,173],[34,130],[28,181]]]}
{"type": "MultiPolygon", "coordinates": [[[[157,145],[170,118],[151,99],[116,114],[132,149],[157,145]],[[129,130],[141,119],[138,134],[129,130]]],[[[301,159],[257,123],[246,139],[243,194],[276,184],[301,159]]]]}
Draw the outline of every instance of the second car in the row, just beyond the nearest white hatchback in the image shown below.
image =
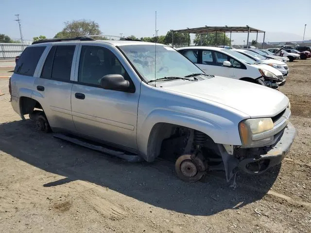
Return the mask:
{"type": "MultiPolygon", "coordinates": [[[[261,56],[260,54],[253,52],[251,50],[236,50],[242,54],[244,54],[245,56],[248,56],[249,58],[254,59],[256,62],[262,63],[262,64],[267,64],[271,67],[276,68],[277,70],[279,70],[283,77],[288,76],[289,73],[289,69],[288,66],[281,61],[275,60],[275,59],[271,59],[271,58],[266,58],[264,56],[261,56]]],[[[285,82],[285,78],[283,80],[283,83],[285,82]]]]}

